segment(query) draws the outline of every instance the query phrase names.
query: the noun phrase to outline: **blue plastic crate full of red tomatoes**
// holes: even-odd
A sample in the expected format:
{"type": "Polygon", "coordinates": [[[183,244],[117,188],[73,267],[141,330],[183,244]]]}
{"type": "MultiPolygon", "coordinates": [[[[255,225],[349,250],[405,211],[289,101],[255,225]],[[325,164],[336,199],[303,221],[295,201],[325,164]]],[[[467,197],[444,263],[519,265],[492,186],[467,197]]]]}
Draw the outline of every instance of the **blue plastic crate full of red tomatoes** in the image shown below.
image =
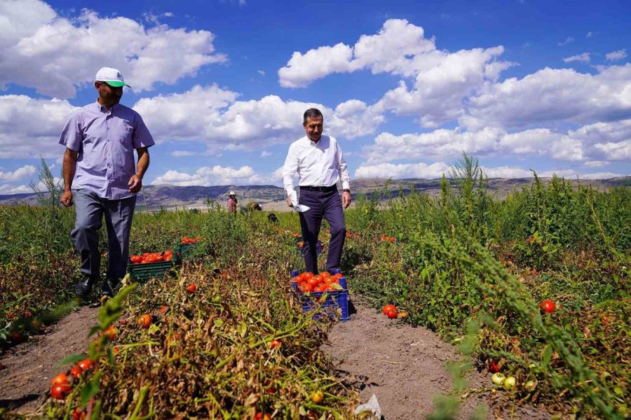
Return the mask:
{"type": "Polygon", "coordinates": [[[348,288],[346,277],[340,272],[331,274],[322,272],[313,273],[292,272],[291,285],[302,306],[302,311],[313,311],[313,318],[320,319],[323,316],[348,321],[348,288]]]}

